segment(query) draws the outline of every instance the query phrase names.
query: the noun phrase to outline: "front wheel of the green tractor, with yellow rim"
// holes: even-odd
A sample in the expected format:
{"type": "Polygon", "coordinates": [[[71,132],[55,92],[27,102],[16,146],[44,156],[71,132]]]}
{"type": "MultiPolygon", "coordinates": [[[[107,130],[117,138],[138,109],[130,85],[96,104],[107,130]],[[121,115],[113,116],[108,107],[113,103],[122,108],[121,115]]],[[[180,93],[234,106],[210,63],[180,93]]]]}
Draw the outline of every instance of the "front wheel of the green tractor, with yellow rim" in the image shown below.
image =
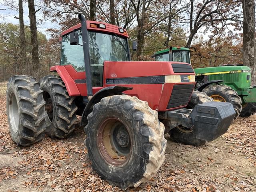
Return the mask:
{"type": "Polygon", "coordinates": [[[234,119],[238,118],[242,110],[242,100],[234,89],[226,85],[212,85],[204,88],[203,92],[214,101],[231,103],[236,111],[234,119]]]}

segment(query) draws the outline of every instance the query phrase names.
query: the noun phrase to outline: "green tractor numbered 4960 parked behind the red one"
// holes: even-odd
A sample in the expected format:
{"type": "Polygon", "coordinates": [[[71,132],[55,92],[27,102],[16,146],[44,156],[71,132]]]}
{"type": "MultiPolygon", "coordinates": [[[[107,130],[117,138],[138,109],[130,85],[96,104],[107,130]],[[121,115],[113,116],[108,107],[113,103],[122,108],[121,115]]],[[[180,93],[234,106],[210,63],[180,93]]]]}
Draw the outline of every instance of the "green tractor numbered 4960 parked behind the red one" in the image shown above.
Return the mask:
{"type": "MultiPolygon", "coordinates": [[[[154,54],[156,61],[190,62],[192,50],[170,47],[154,54]]],[[[205,92],[214,101],[230,102],[237,118],[251,116],[256,112],[256,86],[251,86],[251,69],[243,65],[222,65],[194,69],[196,90],[194,95],[205,92]]],[[[191,98],[192,100],[193,98],[191,98]]],[[[202,103],[202,102],[199,102],[202,103]]]]}

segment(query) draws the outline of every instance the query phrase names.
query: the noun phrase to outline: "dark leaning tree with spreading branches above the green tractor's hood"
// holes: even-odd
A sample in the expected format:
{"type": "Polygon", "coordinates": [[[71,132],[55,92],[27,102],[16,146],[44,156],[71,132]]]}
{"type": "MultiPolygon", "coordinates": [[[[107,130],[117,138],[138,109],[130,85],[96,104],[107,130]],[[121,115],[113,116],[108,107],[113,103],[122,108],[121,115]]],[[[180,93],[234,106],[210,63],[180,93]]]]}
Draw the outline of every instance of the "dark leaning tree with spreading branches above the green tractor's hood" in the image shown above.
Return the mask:
{"type": "Polygon", "coordinates": [[[186,47],[190,47],[194,36],[202,27],[206,30],[212,27],[212,32],[218,34],[220,31],[224,32],[225,27],[234,25],[235,22],[239,23],[239,19],[242,18],[239,12],[240,4],[239,0],[204,0],[203,2],[190,0],[188,10],[190,35],[186,47]]]}

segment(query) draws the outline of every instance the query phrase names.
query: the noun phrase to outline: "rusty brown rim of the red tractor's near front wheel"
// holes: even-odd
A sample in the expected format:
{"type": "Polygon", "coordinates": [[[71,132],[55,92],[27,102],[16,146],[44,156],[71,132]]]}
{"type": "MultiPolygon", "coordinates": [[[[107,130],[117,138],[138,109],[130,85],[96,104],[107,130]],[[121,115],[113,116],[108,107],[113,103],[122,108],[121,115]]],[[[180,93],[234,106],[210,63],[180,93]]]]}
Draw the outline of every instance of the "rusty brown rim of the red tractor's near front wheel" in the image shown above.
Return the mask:
{"type": "Polygon", "coordinates": [[[130,132],[117,118],[108,118],[100,125],[97,145],[102,157],[112,165],[124,165],[132,151],[130,132]]]}

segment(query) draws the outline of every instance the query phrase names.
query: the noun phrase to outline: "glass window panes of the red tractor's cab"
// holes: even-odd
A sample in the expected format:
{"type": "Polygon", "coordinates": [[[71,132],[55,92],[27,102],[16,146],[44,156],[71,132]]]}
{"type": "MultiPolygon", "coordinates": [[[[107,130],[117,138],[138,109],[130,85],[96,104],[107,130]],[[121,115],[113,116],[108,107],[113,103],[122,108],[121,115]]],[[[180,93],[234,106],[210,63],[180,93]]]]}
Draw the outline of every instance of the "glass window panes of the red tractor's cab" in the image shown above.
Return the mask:
{"type": "MultiPolygon", "coordinates": [[[[79,44],[82,44],[82,33],[78,31],[79,44]]],[[[92,86],[103,83],[104,61],[129,61],[127,38],[116,34],[104,34],[88,31],[92,86]]],[[[81,45],[70,45],[69,34],[62,37],[61,65],[72,65],[77,72],[85,71],[84,52],[81,45]]]]}

